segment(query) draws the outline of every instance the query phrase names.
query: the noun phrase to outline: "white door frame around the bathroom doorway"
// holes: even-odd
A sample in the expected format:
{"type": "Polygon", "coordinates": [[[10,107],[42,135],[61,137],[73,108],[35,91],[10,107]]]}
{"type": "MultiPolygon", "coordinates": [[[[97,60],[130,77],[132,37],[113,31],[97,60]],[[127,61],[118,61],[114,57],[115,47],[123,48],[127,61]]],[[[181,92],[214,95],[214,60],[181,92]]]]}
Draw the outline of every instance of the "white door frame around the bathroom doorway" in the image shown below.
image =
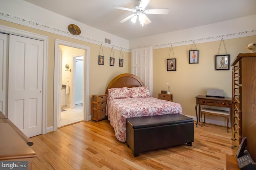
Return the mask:
{"type": "MultiPolygon", "coordinates": [[[[89,59],[90,59],[90,47],[85,45],[80,45],[76,43],[70,43],[68,41],[63,41],[60,39],[55,39],[55,54],[54,54],[54,108],[53,108],[53,130],[57,130],[57,75],[59,74],[59,69],[57,67],[58,61],[58,46],[65,45],[68,47],[74,47],[84,50],[84,121],[89,120],[89,59]]],[[[59,101],[60,102],[60,101],[59,101]]]]}

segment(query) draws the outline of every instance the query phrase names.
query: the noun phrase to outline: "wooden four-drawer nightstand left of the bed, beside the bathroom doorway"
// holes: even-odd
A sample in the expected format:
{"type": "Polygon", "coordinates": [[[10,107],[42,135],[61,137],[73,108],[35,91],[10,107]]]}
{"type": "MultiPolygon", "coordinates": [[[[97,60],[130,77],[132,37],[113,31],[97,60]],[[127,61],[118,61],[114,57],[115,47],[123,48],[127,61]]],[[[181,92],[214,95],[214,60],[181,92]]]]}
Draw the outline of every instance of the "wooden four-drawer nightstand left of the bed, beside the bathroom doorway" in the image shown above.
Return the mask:
{"type": "Polygon", "coordinates": [[[92,120],[105,119],[107,97],[104,95],[92,95],[92,120]]]}

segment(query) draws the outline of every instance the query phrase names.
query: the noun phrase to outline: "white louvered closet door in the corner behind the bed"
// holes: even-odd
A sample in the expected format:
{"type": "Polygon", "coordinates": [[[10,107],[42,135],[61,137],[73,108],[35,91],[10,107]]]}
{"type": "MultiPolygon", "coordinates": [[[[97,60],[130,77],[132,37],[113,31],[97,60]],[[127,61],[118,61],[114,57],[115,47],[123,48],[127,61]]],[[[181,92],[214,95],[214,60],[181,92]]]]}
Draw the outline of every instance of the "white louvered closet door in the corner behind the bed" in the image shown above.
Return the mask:
{"type": "Polygon", "coordinates": [[[144,85],[149,87],[150,94],[153,90],[152,61],[152,46],[132,50],[132,74],[139,77],[144,85]]]}

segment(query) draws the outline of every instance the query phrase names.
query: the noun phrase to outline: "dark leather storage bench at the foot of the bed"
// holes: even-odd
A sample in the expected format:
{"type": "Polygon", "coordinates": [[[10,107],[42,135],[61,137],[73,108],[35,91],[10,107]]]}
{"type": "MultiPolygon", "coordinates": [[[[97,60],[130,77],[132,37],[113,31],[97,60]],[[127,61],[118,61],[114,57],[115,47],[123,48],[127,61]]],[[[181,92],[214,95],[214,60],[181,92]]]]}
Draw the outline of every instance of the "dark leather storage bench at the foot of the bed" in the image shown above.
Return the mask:
{"type": "Polygon", "coordinates": [[[126,119],[126,144],[134,157],[139,153],[172,147],[192,145],[194,120],[182,114],[167,114],[126,119]]]}

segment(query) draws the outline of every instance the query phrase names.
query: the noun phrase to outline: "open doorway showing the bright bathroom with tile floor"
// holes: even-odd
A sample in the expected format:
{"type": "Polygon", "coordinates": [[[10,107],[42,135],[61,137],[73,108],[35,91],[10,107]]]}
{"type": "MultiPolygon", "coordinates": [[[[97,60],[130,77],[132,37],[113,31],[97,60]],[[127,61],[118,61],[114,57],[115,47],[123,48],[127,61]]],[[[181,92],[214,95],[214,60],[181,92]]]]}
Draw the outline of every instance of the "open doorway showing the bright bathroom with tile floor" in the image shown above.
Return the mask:
{"type": "Polygon", "coordinates": [[[62,90],[58,127],[62,127],[84,120],[84,50],[59,46],[62,54],[62,90]]]}

